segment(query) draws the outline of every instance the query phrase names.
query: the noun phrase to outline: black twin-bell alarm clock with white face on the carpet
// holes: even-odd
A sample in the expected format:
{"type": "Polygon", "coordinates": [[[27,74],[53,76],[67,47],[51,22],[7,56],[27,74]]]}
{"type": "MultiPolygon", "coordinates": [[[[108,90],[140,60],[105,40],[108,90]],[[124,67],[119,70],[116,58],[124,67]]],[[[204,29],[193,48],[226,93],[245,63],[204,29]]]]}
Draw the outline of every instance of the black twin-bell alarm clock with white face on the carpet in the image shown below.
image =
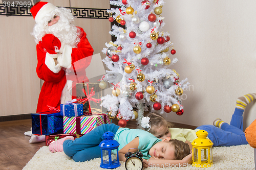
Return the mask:
{"type": "MultiPolygon", "coordinates": [[[[137,149],[137,148],[131,148],[137,149]]],[[[126,170],[141,170],[143,168],[143,154],[138,150],[137,152],[130,152],[130,150],[124,155],[125,160],[125,169],[126,170]]]]}

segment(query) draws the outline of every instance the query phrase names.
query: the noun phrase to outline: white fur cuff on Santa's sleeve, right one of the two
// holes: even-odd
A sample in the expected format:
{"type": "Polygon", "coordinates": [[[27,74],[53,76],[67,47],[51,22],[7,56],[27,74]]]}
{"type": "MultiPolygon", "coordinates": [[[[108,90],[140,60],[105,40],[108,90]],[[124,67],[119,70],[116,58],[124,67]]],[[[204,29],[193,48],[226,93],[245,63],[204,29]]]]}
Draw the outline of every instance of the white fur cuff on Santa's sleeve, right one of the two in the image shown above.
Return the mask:
{"type": "Polygon", "coordinates": [[[62,55],[59,55],[57,60],[60,66],[65,68],[71,67],[71,54],[72,54],[72,47],[70,45],[63,45],[63,52],[62,55]]]}

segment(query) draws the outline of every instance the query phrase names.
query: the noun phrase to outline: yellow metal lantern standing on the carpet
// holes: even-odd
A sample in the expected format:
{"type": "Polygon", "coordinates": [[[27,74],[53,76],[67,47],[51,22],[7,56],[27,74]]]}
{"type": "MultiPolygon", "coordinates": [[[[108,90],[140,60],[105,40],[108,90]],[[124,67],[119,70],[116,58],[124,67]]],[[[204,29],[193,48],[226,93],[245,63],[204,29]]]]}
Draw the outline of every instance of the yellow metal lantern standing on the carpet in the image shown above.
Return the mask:
{"type": "Polygon", "coordinates": [[[207,139],[208,132],[199,130],[196,133],[197,137],[191,143],[193,146],[193,163],[195,167],[210,167],[212,163],[212,141],[207,139]]]}

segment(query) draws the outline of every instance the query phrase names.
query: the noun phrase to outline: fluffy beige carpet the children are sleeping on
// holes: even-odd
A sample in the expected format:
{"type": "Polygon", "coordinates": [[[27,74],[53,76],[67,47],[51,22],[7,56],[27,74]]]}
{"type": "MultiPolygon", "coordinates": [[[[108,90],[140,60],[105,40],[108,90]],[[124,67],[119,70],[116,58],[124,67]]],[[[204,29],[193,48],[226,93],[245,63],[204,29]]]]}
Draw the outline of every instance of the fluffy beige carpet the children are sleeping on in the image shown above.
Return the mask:
{"type": "MultiPolygon", "coordinates": [[[[254,153],[253,148],[247,145],[240,145],[236,147],[215,147],[213,148],[214,166],[207,169],[254,169],[254,153]]],[[[65,153],[51,153],[48,147],[40,148],[34,157],[23,168],[24,170],[34,169],[90,169],[98,170],[100,168],[101,159],[96,158],[87,162],[74,162],[65,153]]],[[[124,162],[116,169],[125,169],[124,162]]],[[[159,167],[148,167],[149,169],[159,169],[159,167]]],[[[168,167],[163,169],[202,169],[193,166],[187,167],[168,167]]]]}

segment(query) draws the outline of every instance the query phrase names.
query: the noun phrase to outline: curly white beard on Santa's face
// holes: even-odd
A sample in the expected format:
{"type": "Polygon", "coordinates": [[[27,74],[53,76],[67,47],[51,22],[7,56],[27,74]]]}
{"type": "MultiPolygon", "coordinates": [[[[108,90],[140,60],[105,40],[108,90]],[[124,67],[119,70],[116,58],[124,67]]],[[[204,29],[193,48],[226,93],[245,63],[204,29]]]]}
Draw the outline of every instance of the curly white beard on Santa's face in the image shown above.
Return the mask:
{"type": "Polygon", "coordinates": [[[77,28],[70,24],[65,18],[61,18],[54,25],[47,27],[45,32],[47,34],[53,34],[61,43],[69,44],[73,47],[79,42],[77,28]]]}

